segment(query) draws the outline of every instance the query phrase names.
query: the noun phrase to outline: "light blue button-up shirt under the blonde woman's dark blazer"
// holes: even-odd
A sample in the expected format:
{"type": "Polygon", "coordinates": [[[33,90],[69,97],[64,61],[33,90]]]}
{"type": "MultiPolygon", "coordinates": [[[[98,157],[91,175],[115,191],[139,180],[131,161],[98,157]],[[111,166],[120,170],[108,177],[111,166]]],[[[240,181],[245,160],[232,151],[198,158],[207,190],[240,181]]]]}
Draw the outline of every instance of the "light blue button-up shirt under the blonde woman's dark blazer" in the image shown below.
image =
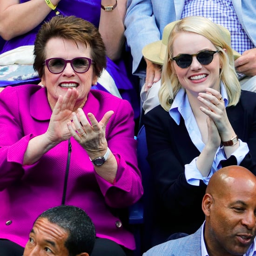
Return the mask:
{"type": "MultiPolygon", "coordinates": [[[[222,99],[224,100],[225,107],[229,104],[228,95],[225,86],[221,82],[221,94],[222,99]]],[[[182,88],[178,91],[173,101],[173,104],[169,110],[169,115],[173,118],[173,120],[180,124],[181,118],[185,121],[185,126],[188,130],[191,141],[194,143],[195,147],[202,152],[205,144],[202,141],[202,136],[198,125],[195,120],[195,116],[192,112],[192,109],[189,104],[188,95],[185,90],[182,88]]],[[[232,155],[236,157],[237,165],[243,161],[245,155],[249,152],[249,148],[246,142],[243,142],[239,139],[239,148],[237,148],[232,155]]],[[[199,186],[200,180],[202,180],[206,185],[209,182],[210,177],[220,168],[221,161],[226,160],[227,157],[224,152],[224,148],[219,147],[216,151],[216,155],[212,164],[212,168],[207,177],[203,177],[201,172],[198,170],[196,166],[196,160],[198,157],[195,157],[189,164],[185,165],[185,176],[186,180],[189,184],[194,186],[199,186]]]]}

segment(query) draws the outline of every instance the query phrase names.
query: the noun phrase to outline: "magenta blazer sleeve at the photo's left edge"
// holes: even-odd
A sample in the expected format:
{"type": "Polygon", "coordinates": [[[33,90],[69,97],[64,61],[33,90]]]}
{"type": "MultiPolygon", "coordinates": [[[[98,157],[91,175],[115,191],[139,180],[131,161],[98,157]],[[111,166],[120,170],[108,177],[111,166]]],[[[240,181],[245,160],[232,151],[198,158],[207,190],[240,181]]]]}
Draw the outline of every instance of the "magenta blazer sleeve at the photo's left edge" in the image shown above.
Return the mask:
{"type": "MultiPolygon", "coordinates": [[[[6,88],[0,97],[0,190],[19,180],[24,174],[24,154],[32,134],[24,135],[19,114],[19,95],[6,88]]],[[[27,102],[29,99],[26,98],[27,102]]],[[[26,125],[26,124],[25,124],[26,125]]]]}

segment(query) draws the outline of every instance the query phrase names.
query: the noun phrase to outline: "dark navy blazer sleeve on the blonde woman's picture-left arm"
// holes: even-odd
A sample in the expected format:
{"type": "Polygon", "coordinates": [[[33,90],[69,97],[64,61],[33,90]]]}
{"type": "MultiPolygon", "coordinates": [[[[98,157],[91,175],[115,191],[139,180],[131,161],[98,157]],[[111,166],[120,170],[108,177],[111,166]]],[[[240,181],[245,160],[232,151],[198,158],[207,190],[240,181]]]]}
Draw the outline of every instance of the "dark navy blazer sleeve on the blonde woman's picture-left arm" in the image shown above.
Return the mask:
{"type": "Polygon", "coordinates": [[[186,163],[200,152],[189,138],[184,125],[176,125],[167,111],[158,106],[145,115],[144,123],[155,193],[172,214],[199,207],[206,185],[190,185],[185,178],[186,163]]]}

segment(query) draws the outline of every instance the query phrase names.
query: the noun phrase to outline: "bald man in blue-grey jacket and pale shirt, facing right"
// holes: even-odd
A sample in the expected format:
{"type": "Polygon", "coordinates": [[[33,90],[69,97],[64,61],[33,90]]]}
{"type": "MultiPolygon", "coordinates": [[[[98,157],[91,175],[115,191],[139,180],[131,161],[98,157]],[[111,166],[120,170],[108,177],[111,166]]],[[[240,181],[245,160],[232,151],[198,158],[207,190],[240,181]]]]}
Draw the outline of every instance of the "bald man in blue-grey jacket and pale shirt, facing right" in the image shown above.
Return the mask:
{"type": "MultiPolygon", "coordinates": [[[[210,178],[205,222],[194,234],[159,244],[143,256],[256,256],[256,176],[228,166],[210,178]]],[[[188,213],[191,214],[191,213],[188,213]]]]}

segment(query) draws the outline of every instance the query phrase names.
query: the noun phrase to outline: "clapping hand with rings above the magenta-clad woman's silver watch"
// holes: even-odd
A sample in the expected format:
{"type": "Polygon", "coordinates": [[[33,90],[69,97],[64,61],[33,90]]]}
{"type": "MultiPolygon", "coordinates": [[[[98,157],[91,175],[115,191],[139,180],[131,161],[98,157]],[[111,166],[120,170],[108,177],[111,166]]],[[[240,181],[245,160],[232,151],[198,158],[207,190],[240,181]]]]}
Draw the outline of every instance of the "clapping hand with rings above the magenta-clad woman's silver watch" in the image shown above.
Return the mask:
{"type": "Polygon", "coordinates": [[[97,121],[92,113],[88,113],[89,123],[85,113],[78,108],[77,113],[72,113],[73,122],[67,123],[67,128],[74,139],[81,144],[91,158],[104,155],[108,148],[105,131],[112,110],[105,113],[101,121],[97,121]]]}

